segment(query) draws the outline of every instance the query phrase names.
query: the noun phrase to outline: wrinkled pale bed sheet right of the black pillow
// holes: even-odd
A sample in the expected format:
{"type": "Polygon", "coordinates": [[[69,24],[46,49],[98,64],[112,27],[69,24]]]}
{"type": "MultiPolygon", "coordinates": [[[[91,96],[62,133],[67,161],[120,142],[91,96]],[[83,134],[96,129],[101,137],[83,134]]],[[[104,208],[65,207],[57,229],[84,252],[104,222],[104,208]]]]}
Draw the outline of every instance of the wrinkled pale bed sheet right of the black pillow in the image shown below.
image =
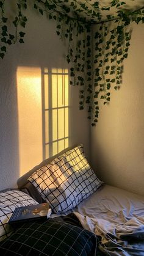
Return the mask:
{"type": "Polygon", "coordinates": [[[73,212],[84,229],[101,236],[104,254],[144,256],[144,197],[103,185],[73,212]]]}

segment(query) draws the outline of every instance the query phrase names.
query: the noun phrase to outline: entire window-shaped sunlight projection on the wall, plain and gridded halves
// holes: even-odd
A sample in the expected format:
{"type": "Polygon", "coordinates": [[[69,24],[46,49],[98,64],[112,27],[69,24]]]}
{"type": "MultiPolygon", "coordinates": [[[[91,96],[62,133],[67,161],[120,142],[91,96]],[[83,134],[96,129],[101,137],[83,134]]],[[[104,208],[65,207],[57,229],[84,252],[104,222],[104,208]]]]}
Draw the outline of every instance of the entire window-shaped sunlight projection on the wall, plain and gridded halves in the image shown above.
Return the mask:
{"type": "Polygon", "coordinates": [[[68,70],[18,67],[20,176],[69,144],[68,70]]]}

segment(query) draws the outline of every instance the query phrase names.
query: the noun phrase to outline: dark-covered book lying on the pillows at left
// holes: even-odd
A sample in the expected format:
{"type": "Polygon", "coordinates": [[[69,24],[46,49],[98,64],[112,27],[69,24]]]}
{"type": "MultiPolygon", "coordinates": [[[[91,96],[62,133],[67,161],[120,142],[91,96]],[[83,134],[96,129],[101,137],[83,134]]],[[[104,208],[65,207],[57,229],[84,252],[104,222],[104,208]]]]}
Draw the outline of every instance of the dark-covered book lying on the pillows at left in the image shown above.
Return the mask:
{"type": "Polygon", "coordinates": [[[38,203],[37,205],[17,207],[9,219],[9,224],[33,221],[41,218],[47,219],[50,215],[51,208],[49,207],[49,203],[38,203]]]}

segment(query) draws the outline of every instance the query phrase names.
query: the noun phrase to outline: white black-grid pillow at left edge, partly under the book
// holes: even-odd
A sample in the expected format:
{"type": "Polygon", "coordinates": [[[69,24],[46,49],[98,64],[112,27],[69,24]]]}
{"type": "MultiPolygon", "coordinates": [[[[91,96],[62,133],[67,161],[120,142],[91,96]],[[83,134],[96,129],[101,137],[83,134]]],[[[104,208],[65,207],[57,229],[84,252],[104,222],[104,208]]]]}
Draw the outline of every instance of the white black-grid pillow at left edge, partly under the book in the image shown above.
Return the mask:
{"type": "Polygon", "coordinates": [[[8,221],[15,208],[36,203],[37,201],[32,197],[18,190],[0,192],[0,241],[10,235],[13,230],[8,221]]]}

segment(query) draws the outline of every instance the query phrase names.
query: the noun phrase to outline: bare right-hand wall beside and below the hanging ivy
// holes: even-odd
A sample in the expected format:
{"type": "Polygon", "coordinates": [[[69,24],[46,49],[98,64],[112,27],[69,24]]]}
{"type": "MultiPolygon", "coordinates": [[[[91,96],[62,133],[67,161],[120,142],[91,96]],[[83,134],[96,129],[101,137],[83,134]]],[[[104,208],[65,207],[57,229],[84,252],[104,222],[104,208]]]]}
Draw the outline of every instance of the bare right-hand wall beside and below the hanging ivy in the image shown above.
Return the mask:
{"type": "Polygon", "coordinates": [[[123,84],[91,130],[92,166],[109,185],[144,194],[144,26],[132,24],[123,84]]]}

